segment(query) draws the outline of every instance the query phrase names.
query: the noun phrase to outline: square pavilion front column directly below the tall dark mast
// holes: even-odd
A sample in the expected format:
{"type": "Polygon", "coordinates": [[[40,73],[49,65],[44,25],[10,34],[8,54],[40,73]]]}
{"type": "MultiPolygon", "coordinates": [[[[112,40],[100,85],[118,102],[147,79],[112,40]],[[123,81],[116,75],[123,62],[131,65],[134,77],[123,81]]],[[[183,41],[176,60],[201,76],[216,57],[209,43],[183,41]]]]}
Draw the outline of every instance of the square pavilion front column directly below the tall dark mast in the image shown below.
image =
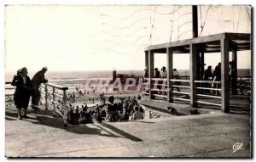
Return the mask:
{"type": "Polygon", "coordinates": [[[190,71],[189,71],[189,80],[190,80],[190,105],[191,107],[197,107],[196,103],[196,89],[195,83],[197,76],[197,56],[195,44],[190,44],[190,54],[189,54],[189,61],[190,61],[190,71]]]}

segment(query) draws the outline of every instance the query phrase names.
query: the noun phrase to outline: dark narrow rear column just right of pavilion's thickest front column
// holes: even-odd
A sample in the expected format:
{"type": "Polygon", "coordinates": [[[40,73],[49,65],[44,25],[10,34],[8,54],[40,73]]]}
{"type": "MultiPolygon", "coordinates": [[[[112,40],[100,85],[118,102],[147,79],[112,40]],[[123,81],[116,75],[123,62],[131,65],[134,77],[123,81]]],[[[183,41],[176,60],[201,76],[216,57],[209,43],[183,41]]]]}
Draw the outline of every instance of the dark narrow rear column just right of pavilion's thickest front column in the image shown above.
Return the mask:
{"type": "Polygon", "coordinates": [[[237,94],[237,51],[232,51],[232,93],[237,94]]]}

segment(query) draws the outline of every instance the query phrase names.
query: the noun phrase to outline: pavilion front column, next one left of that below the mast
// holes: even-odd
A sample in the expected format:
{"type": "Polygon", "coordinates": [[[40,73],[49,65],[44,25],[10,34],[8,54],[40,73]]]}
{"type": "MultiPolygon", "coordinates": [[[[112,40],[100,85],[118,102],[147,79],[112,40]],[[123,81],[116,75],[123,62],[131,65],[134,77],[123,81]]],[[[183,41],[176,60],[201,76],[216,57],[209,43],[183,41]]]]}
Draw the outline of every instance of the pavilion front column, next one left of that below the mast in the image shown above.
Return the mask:
{"type": "Polygon", "coordinates": [[[167,88],[168,88],[168,92],[167,92],[167,101],[172,103],[173,99],[172,99],[172,82],[170,81],[173,77],[173,54],[172,54],[172,48],[171,47],[167,47],[166,48],[166,56],[167,56],[167,88]]]}

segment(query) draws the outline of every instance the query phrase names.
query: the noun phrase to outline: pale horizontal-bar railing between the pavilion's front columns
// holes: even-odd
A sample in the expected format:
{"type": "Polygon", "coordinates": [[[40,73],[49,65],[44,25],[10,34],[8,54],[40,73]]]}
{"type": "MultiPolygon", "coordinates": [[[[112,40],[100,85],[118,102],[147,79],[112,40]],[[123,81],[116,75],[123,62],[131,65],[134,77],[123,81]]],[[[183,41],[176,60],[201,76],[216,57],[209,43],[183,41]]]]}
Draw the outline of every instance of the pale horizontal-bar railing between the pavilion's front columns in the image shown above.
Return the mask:
{"type": "MultiPolygon", "coordinates": [[[[147,78],[150,80],[146,83],[148,85],[148,89],[154,97],[165,98],[168,99],[167,93],[171,92],[171,99],[178,101],[190,102],[191,93],[190,93],[190,80],[182,80],[182,79],[171,79],[170,80],[170,89],[168,89],[167,80],[160,78],[147,78]],[[150,83],[150,84],[149,84],[150,83]],[[165,88],[163,88],[165,87],[165,88]],[[175,91],[175,88],[177,89],[175,91]],[[155,93],[158,92],[158,93],[155,93]],[[176,96],[174,96],[176,95],[176,96]]],[[[195,96],[197,97],[195,102],[202,104],[209,104],[215,106],[221,106],[220,103],[214,103],[202,100],[204,98],[214,98],[221,99],[220,92],[220,81],[194,81],[195,83],[195,96]]]]}

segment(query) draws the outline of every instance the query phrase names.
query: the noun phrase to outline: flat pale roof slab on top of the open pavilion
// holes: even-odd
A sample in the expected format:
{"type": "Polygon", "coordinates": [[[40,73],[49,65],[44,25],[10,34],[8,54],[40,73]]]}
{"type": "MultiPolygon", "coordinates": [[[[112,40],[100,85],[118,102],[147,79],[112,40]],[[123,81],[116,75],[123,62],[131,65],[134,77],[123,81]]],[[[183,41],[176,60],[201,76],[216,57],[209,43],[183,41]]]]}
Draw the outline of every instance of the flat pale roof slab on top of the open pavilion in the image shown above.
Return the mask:
{"type": "Polygon", "coordinates": [[[148,46],[144,51],[153,51],[154,53],[166,53],[167,47],[172,47],[173,53],[189,53],[190,44],[198,44],[199,48],[205,53],[219,53],[221,50],[220,40],[230,40],[230,51],[244,51],[251,49],[251,34],[247,33],[220,33],[210,36],[200,36],[191,39],[185,39],[176,42],[166,42],[148,46]]]}

